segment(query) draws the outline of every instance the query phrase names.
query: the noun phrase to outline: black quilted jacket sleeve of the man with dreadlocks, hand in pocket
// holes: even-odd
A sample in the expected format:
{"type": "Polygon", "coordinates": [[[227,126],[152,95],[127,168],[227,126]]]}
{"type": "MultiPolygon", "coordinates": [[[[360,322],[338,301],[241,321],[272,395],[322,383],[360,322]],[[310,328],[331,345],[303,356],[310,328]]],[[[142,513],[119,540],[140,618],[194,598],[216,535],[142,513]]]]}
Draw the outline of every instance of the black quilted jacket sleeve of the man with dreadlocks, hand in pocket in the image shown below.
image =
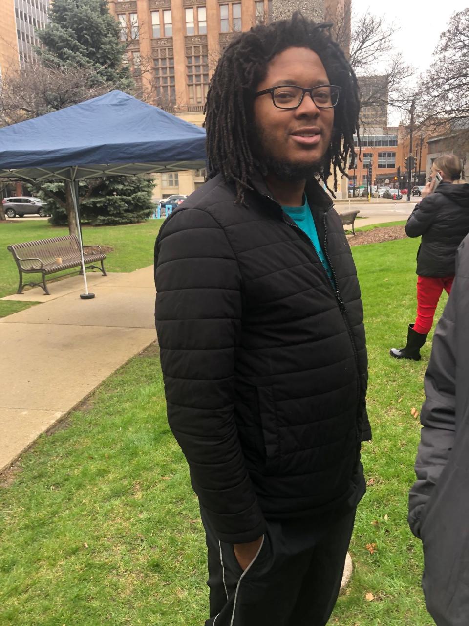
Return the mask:
{"type": "Polygon", "coordinates": [[[219,540],[253,541],[265,531],[265,520],[234,416],[242,314],[238,262],[214,218],[184,208],[160,231],[154,269],[169,426],[219,540]]]}

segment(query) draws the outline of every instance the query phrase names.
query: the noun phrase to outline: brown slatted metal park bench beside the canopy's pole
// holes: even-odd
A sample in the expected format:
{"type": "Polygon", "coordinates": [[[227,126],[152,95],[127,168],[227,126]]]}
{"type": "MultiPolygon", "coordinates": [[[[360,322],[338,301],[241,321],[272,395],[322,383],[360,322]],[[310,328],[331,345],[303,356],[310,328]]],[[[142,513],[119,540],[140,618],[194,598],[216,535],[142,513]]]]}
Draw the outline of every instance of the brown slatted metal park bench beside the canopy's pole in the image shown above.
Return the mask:
{"type": "MultiPolygon", "coordinates": [[[[17,294],[23,293],[23,287],[42,287],[49,294],[46,285],[46,276],[61,272],[72,267],[81,267],[80,245],[76,235],[66,237],[51,237],[50,239],[38,239],[23,244],[11,244],[8,250],[18,265],[19,286],[17,294]],[[43,282],[23,283],[23,274],[42,274],[43,282]]],[[[101,252],[99,245],[84,245],[83,256],[86,269],[97,269],[106,276],[104,259],[106,255],[101,252]],[[90,265],[101,261],[101,267],[90,265]]]]}

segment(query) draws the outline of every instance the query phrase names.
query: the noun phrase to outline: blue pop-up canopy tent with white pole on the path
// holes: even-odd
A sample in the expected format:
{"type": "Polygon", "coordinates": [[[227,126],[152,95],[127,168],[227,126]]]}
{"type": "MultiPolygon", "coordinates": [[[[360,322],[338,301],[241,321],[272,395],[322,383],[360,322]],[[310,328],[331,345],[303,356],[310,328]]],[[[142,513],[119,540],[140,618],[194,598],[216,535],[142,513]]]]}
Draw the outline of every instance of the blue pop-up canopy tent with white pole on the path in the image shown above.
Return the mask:
{"type": "MultiPolygon", "coordinates": [[[[78,181],[106,176],[198,170],[205,130],[122,91],[0,128],[0,178],[71,187],[79,225],[78,181]]],[[[85,294],[88,282],[81,248],[85,294]]]]}

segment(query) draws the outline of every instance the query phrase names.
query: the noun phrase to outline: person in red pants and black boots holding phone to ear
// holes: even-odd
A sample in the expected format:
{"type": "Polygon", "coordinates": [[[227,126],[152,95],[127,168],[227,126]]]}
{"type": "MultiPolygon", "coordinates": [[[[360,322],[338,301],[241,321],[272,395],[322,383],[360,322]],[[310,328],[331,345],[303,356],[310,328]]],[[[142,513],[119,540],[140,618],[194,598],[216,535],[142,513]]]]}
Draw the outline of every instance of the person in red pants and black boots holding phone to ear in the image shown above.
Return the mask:
{"type": "Polygon", "coordinates": [[[408,237],[420,237],[417,253],[417,317],[409,324],[407,343],[391,348],[395,359],[420,361],[420,348],[433,326],[436,306],[443,289],[447,294],[455,275],[458,245],[469,232],[469,185],[453,185],[461,176],[456,155],[439,156],[431,166],[431,182],[422,192],[405,226],[408,237]],[[436,185],[436,175],[442,181],[436,185]],[[435,190],[434,190],[435,189],[435,190]]]}

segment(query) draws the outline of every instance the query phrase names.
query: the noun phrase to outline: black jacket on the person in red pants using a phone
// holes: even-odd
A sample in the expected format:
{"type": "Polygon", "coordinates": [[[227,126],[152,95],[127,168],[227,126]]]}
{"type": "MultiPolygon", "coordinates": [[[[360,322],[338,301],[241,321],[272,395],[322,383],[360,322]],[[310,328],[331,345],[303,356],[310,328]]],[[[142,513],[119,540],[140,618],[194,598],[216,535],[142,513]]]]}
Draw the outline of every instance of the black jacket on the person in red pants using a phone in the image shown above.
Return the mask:
{"type": "Polygon", "coordinates": [[[469,233],[469,185],[440,183],[435,193],[416,205],[405,232],[409,237],[421,235],[419,276],[453,276],[456,250],[469,233]]]}

